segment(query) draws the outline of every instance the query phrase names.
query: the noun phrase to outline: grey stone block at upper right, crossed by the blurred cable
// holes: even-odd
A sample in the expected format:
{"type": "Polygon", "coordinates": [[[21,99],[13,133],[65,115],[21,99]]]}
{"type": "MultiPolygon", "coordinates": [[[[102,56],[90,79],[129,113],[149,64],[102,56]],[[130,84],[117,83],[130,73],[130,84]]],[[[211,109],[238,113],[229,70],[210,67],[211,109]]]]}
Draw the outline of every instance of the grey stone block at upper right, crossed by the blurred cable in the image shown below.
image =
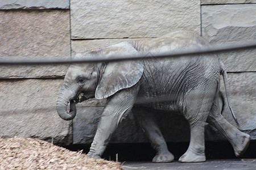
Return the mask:
{"type": "MultiPolygon", "coordinates": [[[[211,44],[255,40],[256,4],[202,6],[202,35],[211,44]]],[[[228,71],[256,71],[256,50],[221,54],[228,71]]]]}

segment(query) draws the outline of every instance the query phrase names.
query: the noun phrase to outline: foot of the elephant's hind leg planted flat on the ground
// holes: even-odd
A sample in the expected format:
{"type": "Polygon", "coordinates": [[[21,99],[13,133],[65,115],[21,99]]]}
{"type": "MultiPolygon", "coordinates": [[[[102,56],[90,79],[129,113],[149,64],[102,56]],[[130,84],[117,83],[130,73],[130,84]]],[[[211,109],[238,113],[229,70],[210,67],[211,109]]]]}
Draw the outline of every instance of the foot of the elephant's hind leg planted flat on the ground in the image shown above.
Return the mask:
{"type": "Polygon", "coordinates": [[[179,162],[205,162],[206,158],[204,154],[187,151],[180,156],[179,162]]]}

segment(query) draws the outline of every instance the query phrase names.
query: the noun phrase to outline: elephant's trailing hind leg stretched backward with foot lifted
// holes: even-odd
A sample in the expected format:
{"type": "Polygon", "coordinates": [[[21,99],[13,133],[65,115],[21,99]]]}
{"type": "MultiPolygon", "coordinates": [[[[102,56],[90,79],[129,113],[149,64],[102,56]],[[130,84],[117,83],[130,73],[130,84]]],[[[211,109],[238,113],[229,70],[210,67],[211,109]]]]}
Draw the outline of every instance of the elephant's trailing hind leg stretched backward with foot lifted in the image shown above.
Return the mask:
{"type": "Polygon", "coordinates": [[[220,114],[218,100],[214,100],[207,122],[218,129],[231,143],[236,156],[246,151],[250,143],[250,135],[242,133],[220,114]]]}

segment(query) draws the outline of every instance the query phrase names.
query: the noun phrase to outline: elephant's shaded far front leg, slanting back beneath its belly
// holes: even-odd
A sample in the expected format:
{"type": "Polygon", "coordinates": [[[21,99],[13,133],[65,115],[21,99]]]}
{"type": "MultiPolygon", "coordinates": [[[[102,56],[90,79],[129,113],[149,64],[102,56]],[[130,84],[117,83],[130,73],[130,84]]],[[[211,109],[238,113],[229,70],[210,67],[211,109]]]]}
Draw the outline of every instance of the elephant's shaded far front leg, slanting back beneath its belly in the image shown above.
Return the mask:
{"type": "Polygon", "coordinates": [[[152,147],[156,151],[156,155],[152,159],[152,162],[172,162],[174,160],[174,155],[168,151],[166,141],[164,140],[158,125],[154,121],[154,112],[150,109],[134,107],[133,113],[139,125],[141,125],[147,137],[150,139],[152,147]]]}

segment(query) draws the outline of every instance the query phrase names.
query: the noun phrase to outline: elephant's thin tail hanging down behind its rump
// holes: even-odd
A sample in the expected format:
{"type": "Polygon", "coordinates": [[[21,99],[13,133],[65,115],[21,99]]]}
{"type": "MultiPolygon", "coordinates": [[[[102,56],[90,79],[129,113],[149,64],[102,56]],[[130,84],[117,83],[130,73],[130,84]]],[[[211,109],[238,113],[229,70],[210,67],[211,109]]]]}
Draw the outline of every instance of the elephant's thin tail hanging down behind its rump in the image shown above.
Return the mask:
{"type": "Polygon", "coordinates": [[[226,69],[224,67],[224,64],[220,61],[221,63],[221,74],[222,74],[222,77],[223,77],[223,80],[224,80],[224,87],[225,87],[225,94],[226,94],[226,102],[228,103],[228,106],[229,106],[229,110],[230,112],[232,113],[232,117],[234,118],[234,121],[236,122],[237,126],[238,126],[238,129],[240,128],[240,125],[237,121],[237,118],[236,118],[236,115],[234,114],[231,106],[230,106],[230,101],[229,101],[229,97],[228,97],[228,94],[229,94],[229,85],[228,85],[228,75],[226,74],[226,69]]]}

